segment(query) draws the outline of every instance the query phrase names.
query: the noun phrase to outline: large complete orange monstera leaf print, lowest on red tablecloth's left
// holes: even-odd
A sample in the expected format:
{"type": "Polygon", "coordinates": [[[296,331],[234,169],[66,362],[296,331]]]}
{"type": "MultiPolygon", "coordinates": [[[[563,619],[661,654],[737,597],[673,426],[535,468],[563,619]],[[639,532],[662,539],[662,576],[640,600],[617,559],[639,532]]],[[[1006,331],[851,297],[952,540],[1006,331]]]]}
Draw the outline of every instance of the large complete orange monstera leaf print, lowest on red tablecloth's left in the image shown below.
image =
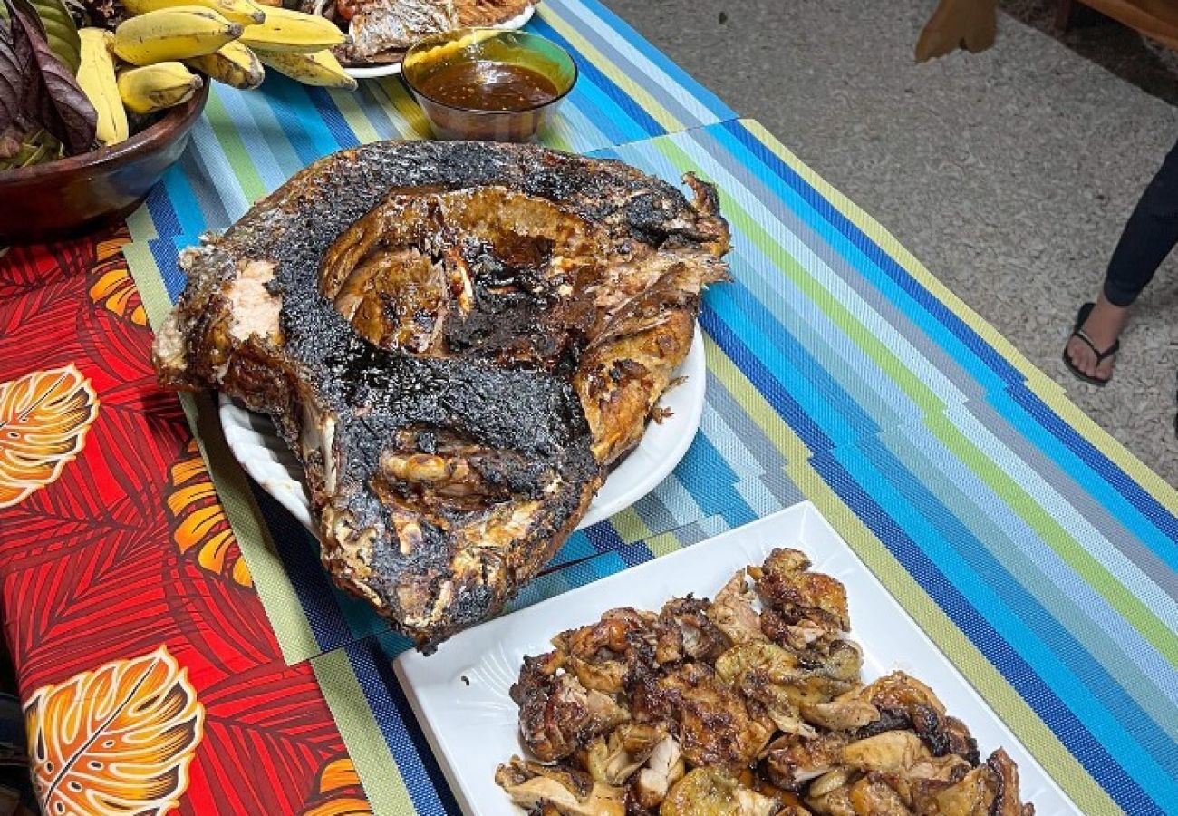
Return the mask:
{"type": "Polygon", "coordinates": [[[188,787],[204,718],[187,670],[164,646],[38,689],[25,726],[42,812],[167,812],[188,787]]]}

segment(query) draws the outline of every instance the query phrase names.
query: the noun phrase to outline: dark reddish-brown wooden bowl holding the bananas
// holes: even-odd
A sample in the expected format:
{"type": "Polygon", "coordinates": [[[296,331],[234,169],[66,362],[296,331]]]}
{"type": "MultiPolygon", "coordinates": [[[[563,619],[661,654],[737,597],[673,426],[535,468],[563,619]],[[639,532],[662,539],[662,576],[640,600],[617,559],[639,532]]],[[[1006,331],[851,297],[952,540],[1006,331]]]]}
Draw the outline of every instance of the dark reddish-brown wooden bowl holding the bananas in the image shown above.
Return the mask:
{"type": "Polygon", "coordinates": [[[192,99],[110,147],[0,170],[0,244],[87,232],[127,216],[180,158],[209,99],[209,81],[192,99]]]}

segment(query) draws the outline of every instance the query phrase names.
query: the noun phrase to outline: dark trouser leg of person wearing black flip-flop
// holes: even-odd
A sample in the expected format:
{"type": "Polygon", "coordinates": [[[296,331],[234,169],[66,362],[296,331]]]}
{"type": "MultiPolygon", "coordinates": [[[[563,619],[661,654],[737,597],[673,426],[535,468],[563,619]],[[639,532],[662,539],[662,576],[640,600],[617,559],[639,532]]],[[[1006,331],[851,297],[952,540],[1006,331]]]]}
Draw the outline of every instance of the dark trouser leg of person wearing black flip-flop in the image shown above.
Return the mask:
{"type": "Polygon", "coordinates": [[[1178,244],[1178,144],[1166,154],[1120,233],[1105,276],[1104,294],[1108,302],[1131,305],[1174,244],[1178,244]]]}

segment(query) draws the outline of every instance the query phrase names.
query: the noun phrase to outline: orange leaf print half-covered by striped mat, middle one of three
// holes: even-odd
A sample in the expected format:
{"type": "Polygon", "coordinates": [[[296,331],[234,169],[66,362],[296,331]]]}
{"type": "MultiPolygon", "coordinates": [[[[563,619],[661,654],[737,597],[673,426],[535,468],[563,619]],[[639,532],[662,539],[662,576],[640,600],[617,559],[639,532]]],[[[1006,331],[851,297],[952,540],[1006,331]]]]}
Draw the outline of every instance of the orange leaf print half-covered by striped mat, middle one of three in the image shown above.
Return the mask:
{"type": "Polygon", "coordinates": [[[176,546],[181,553],[194,553],[197,562],[209,572],[227,575],[240,586],[253,586],[250,567],[241,558],[197,440],[188,442],[170,476],[167,509],[176,546]]]}

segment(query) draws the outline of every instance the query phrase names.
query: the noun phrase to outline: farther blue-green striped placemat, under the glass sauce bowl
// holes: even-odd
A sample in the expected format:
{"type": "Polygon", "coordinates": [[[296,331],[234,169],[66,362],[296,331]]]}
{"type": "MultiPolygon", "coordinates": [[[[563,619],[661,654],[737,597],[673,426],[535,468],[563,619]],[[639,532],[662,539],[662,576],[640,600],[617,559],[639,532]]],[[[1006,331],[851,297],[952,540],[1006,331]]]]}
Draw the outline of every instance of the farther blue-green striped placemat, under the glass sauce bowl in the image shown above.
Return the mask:
{"type": "MultiPolygon", "coordinates": [[[[589,152],[735,116],[596,0],[544,0],[527,28],[568,48],[580,70],[574,91],[540,134],[548,146],[589,152]]],[[[224,230],[322,156],[377,139],[428,134],[421,110],[396,77],[365,80],[358,93],[309,87],[273,72],[260,91],[214,85],[190,149],[128,219],[133,242],[124,252],[152,321],[184,288],[177,256],[201,233],[224,230]]],[[[185,406],[196,421],[196,404],[185,399],[185,406]]],[[[210,414],[210,407],[203,413],[210,414]]],[[[258,524],[254,498],[224,453],[219,427],[216,421],[201,425],[218,483],[229,486],[224,492],[231,496],[226,504],[234,528],[249,529],[246,538],[262,542],[252,559],[254,575],[286,659],[304,660],[372,633],[368,610],[330,588],[315,568],[318,545],[304,531],[282,513],[267,514],[278,519],[269,527],[258,524]],[[284,542],[287,560],[304,567],[290,572],[312,575],[302,595],[316,600],[300,606],[287,565],[270,546],[274,538],[284,542]],[[330,607],[330,614],[319,614],[317,605],[330,607]],[[310,620],[322,623],[312,630],[310,620]]]]}

